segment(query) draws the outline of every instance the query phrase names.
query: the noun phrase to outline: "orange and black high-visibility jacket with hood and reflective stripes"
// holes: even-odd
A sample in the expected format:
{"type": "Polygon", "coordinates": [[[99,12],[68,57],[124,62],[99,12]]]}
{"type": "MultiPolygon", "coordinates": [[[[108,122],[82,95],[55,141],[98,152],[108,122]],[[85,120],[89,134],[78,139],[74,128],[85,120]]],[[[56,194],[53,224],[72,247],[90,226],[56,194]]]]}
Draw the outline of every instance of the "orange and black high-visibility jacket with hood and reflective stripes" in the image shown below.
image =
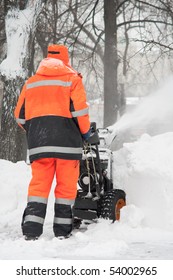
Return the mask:
{"type": "Polygon", "coordinates": [[[43,59],[22,89],[15,118],[26,130],[31,162],[81,159],[81,135],[89,131],[90,121],[80,75],[59,59],[43,59]]]}

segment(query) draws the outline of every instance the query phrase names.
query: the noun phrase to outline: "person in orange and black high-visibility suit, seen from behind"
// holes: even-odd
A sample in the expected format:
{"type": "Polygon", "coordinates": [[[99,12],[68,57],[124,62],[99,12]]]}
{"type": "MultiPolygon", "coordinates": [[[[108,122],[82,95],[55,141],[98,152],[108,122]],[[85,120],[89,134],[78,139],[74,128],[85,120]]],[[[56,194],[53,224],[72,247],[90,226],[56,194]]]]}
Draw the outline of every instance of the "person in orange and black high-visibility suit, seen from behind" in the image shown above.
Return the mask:
{"type": "Polygon", "coordinates": [[[22,89],[15,118],[26,131],[32,168],[23,235],[35,240],[42,234],[56,176],[53,230],[56,237],[67,238],[72,231],[82,138],[90,136],[90,121],[82,77],[70,66],[65,46],[48,47],[47,58],[22,89]]]}

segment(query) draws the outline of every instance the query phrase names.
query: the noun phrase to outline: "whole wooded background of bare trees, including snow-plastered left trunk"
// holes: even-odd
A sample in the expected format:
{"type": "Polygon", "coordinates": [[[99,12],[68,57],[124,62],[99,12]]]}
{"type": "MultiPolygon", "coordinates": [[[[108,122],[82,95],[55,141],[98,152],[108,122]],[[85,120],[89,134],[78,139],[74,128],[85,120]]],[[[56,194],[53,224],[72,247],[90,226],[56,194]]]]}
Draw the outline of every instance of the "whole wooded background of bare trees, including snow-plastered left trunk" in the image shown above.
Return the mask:
{"type": "Polygon", "coordinates": [[[13,109],[24,80],[35,72],[48,44],[69,47],[71,63],[83,74],[90,102],[98,99],[104,106],[104,126],[117,120],[125,96],[146,94],[172,72],[171,0],[11,0],[1,1],[1,8],[0,158],[23,158],[25,141],[13,120],[13,109]],[[14,52],[18,62],[10,62],[14,41],[21,38],[14,52]]]}

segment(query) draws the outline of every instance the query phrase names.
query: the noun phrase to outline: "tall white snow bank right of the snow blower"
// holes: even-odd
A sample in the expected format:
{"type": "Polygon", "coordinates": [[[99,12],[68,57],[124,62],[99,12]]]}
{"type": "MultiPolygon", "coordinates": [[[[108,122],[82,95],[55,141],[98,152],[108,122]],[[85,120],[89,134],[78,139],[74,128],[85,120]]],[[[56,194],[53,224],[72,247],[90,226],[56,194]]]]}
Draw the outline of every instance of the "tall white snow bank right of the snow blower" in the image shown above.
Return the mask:
{"type": "Polygon", "coordinates": [[[126,143],[114,152],[116,186],[125,190],[127,204],[137,207],[139,214],[132,224],[137,219],[151,228],[173,230],[172,155],[173,132],[154,137],[144,134],[139,141],[126,143]]]}

